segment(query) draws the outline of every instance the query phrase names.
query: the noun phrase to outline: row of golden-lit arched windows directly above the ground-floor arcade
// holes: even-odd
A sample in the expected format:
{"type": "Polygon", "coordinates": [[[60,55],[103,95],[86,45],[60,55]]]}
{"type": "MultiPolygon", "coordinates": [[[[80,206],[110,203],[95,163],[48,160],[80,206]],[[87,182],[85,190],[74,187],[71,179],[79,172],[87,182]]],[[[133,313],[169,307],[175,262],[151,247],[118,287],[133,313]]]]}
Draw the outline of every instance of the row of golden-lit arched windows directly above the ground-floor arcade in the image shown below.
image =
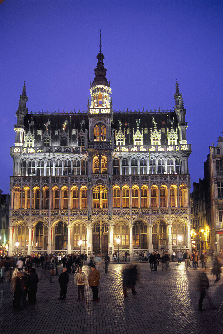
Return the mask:
{"type": "MultiPolygon", "coordinates": [[[[23,190],[19,187],[14,187],[12,197],[12,207],[14,209],[29,209],[30,205],[33,209],[49,209],[51,204],[52,209],[61,208],[71,209],[87,208],[88,189],[82,186],[80,189],[73,186],[69,189],[63,186],[61,190],[54,186],[50,190],[45,186],[42,189],[36,186],[32,190],[32,196],[29,187],[24,187],[23,190]],[[30,198],[31,196],[31,198],[30,198]]],[[[156,185],[149,188],[143,185],[141,189],[134,185],[130,189],[128,185],[120,188],[116,185],[113,187],[113,208],[133,208],[139,207],[187,207],[188,206],[188,191],[185,185],[171,185],[169,189],[166,185],[158,188],[156,185]]],[[[108,190],[103,185],[97,185],[92,189],[92,208],[102,209],[108,207],[108,190]]]]}

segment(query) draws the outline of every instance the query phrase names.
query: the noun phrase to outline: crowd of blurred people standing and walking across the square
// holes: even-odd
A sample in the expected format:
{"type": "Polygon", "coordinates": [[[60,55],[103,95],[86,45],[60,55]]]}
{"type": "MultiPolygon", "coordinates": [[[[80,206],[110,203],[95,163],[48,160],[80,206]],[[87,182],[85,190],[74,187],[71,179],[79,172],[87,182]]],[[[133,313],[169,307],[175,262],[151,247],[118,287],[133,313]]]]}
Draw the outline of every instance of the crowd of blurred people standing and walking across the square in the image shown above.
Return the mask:
{"type": "MultiPolygon", "coordinates": [[[[117,261],[118,255],[115,252],[113,254],[113,261],[117,261]]],[[[192,266],[194,270],[197,270],[199,267],[199,260],[202,272],[200,273],[199,278],[199,291],[200,291],[200,299],[199,299],[199,310],[203,311],[202,302],[207,294],[207,289],[209,287],[209,281],[206,271],[206,262],[207,262],[207,254],[205,251],[201,251],[200,255],[194,248],[192,253],[190,254],[189,249],[183,253],[181,250],[172,254],[168,251],[163,252],[161,255],[154,251],[149,253],[140,252],[139,261],[148,261],[150,265],[151,271],[157,271],[157,266],[161,264],[162,271],[170,271],[169,262],[170,259],[178,261],[178,264],[181,261],[185,262],[186,271],[189,270],[189,267],[192,266]],[[204,270],[203,270],[204,269],[204,270]]],[[[9,277],[9,281],[12,283],[12,290],[14,292],[13,295],[13,309],[20,309],[20,300],[22,296],[23,302],[27,302],[26,298],[28,296],[28,302],[30,304],[34,304],[36,302],[36,293],[38,290],[38,282],[39,278],[35,272],[36,267],[41,267],[42,269],[47,269],[50,272],[50,282],[52,282],[52,277],[59,276],[58,266],[62,266],[62,273],[59,276],[59,284],[60,284],[60,297],[59,300],[66,299],[67,293],[67,285],[69,282],[69,273],[74,273],[74,283],[77,285],[78,290],[78,300],[80,300],[80,295],[82,300],[84,300],[84,290],[87,284],[87,277],[85,273],[82,271],[83,265],[87,265],[88,256],[86,252],[78,255],[76,253],[72,253],[70,255],[57,253],[57,254],[31,254],[30,256],[24,256],[22,254],[17,255],[14,253],[13,256],[1,257],[0,258],[0,281],[5,279],[5,274],[8,272],[7,277],[9,277]],[[23,271],[24,269],[24,271],[23,271]],[[75,270],[73,270],[75,269],[75,270]]],[[[123,252],[122,254],[123,261],[130,260],[129,253],[123,252]]],[[[221,279],[221,267],[223,264],[223,251],[222,248],[218,254],[218,256],[211,256],[213,260],[213,268],[211,270],[212,275],[216,275],[215,282],[218,282],[221,279]]],[[[97,261],[101,261],[101,257],[90,257],[88,266],[91,268],[90,274],[88,276],[88,283],[91,287],[93,299],[91,301],[98,302],[98,285],[100,279],[100,273],[96,269],[97,261]]],[[[108,253],[106,253],[104,257],[105,264],[105,273],[108,273],[108,266],[110,263],[110,257],[108,253]]],[[[137,266],[136,264],[126,265],[123,270],[123,294],[124,297],[127,297],[127,288],[132,289],[133,295],[137,292],[135,291],[135,285],[137,282],[137,266]]],[[[209,298],[210,299],[210,298],[209,298]]],[[[210,301],[211,303],[211,301],[210,301]]]]}

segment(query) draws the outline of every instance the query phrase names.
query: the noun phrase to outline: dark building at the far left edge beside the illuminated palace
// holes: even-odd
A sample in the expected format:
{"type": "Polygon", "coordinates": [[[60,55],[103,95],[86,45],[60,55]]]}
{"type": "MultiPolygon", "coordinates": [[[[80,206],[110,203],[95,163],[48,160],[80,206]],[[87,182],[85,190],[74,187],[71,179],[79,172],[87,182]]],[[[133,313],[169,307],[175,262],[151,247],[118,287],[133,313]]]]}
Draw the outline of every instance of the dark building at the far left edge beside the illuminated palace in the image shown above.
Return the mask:
{"type": "Polygon", "coordinates": [[[7,248],[9,241],[9,194],[2,194],[0,189],[0,250],[7,248]]]}

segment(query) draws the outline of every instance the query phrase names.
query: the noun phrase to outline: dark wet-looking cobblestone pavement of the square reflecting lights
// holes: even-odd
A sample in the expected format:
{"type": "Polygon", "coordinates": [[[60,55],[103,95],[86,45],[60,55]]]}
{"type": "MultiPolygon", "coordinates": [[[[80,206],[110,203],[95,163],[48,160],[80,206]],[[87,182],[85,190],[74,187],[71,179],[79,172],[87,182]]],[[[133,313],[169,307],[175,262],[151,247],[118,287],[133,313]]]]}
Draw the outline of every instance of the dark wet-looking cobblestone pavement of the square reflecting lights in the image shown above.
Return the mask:
{"type": "MultiPolygon", "coordinates": [[[[215,283],[208,262],[208,289],[217,310],[212,310],[205,298],[206,312],[198,311],[199,292],[196,290],[198,271],[190,267],[187,273],[184,263],[170,263],[171,271],[151,272],[148,262],[139,263],[137,295],[123,297],[122,269],[125,264],[109,265],[108,274],[104,265],[99,265],[99,303],[91,302],[92,292],[87,285],[85,300],[77,301],[77,286],[74,274],[70,281],[66,300],[59,298],[58,277],[50,284],[50,272],[38,268],[37,302],[20,305],[21,311],[12,309],[12,292],[8,279],[0,283],[0,333],[223,333],[222,281],[215,283]]],[[[59,274],[62,268],[59,267],[59,274]]],[[[88,275],[90,269],[83,267],[88,275]]]]}

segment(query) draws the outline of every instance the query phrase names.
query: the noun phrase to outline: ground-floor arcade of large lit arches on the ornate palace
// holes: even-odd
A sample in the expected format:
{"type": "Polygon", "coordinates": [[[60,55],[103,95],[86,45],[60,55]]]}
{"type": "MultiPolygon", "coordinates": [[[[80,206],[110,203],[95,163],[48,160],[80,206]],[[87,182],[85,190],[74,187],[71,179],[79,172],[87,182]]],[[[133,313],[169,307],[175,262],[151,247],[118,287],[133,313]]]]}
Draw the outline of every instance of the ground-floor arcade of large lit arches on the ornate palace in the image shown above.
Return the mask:
{"type": "MultiPolygon", "coordinates": [[[[179,248],[178,236],[182,237],[181,247],[190,242],[190,225],[182,219],[174,219],[171,224],[163,219],[156,219],[149,225],[147,221],[137,219],[132,225],[126,220],[117,220],[108,225],[103,219],[96,219],[92,225],[84,220],[71,222],[55,221],[48,226],[45,221],[38,220],[33,226],[24,221],[17,221],[10,227],[11,245],[19,242],[18,250],[27,251],[79,251],[79,240],[82,249],[88,254],[112,253],[118,248],[117,237],[120,237],[120,250],[128,250],[133,255],[134,249],[169,249],[172,252],[179,248]],[[188,242],[189,241],[189,242],[188,242]]],[[[16,247],[12,246],[11,252],[16,247]]]]}

